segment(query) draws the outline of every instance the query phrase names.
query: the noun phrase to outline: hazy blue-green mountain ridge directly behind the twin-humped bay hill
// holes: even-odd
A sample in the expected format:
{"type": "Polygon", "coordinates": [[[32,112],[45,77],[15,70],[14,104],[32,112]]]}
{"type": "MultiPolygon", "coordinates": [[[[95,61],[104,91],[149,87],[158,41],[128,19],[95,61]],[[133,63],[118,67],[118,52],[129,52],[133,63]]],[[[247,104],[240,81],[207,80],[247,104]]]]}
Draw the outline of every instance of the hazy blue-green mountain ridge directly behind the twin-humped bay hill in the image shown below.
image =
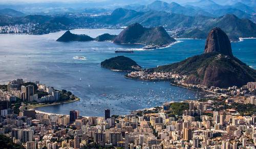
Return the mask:
{"type": "Polygon", "coordinates": [[[256,24],[246,18],[238,18],[235,15],[227,14],[217,18],[207,16],[186,16],[168,12],[137,12],[118,8],[111,15],[99,18],[99,23],[127,26],[140,23],[146,27],[164,26],[165,29],[184,29],[175,37],[182,38],[206,38],[211,28],[222,28],[233,41],[239,37],[256,37],[256,24]]]}

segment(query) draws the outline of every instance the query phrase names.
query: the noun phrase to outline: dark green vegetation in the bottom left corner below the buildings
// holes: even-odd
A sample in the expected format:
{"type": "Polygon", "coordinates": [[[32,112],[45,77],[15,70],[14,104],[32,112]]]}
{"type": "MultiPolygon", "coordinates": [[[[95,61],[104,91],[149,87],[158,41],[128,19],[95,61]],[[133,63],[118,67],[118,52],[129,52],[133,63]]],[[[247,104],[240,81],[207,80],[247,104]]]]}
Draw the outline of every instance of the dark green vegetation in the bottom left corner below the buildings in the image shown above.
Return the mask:
{"type": "Polygon", "coordinates": [[[12,140],[4,135],[0,135],[0,148],[3,149],[20,149],[24,148],[22,145],[18,145],[12,142],[12,140]]]}

